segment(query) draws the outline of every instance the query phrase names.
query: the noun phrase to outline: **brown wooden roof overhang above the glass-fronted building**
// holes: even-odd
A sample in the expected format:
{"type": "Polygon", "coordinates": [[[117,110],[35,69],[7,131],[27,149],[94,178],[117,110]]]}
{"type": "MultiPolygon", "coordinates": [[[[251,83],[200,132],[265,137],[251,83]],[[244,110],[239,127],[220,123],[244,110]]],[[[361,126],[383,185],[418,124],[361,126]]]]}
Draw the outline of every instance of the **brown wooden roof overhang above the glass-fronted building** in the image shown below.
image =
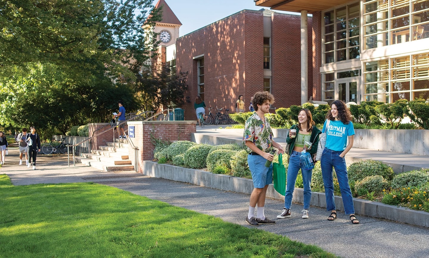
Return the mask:
{"type": "Polygon", "coordinates": [[[273,10],[308,13],[323,11],[344,3],[353,2],[351,0],[254,0],[256,6],[265,6],[273,10]],[[335,2],[335,3],[332,3],[335,2]]]}

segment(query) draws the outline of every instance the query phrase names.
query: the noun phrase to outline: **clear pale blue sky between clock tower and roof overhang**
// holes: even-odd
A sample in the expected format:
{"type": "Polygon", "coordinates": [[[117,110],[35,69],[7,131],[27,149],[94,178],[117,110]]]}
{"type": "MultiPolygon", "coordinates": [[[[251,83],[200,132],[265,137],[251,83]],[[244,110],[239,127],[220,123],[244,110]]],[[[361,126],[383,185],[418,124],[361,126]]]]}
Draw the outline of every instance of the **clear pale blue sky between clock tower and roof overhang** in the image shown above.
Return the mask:
{"type": "MultiPolygon", "coordinates": [[[[180,36],[198,30],[243,9],[260,10],[253,0],[165,0],[179,21],[180,36]]],[[[156,4],[158,0],[154,0],[156,4]]],[[[278,12],[278,11],[276,11],[278,12]]]]}

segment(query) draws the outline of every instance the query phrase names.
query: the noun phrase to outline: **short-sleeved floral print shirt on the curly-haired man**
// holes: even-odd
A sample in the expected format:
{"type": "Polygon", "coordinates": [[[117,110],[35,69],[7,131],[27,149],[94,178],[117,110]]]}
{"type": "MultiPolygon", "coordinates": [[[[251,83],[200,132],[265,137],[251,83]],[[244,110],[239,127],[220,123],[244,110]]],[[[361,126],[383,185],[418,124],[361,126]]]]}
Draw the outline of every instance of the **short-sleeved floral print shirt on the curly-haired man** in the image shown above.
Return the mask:
{"type": "MultiPolygon", "coordinates": [[[[246,121],[243,133],[243,143],[251,141],[254,145],[263,152],[272,150],[272,130],[269,121],[265,118],[265,123],[254,112],[246,121]]],[[[251,153],[252,150],[245,146],[245,150],[251,153]]]]}

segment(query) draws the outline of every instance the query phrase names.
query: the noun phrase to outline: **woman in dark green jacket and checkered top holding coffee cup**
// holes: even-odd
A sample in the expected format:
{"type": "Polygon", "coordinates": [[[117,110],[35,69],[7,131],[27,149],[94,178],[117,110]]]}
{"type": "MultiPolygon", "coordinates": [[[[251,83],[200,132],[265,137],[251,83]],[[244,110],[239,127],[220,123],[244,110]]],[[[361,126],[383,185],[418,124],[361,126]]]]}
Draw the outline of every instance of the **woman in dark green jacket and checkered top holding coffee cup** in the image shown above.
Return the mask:
{"type": "Polygon", "coordinates": [[[292,205],[293,190],[295,190],[296,176],[301,169],[302,184],[304,185],[304,209],[302,209],[302,219],[308,219],[308,209],[310,208],[311,200],[311,174],[313,170],[305,169],[301,161],[301,152],[305,149],[311,155],[317,152],[317,144],[319,143],[319,134],[313,116],[310,110],[301,109],[298,114],[299,124],[294,124],[290,127],[289,135],[286,138],[286,143],[289,144],[289,166],[287,167],[287,186],[286,194],[284,196],[284,208],[278,219],[290,217],[290,206],[292,205]],[[292,133],[291,129],[296,130],[296,134],[292,133]],[[305,142],[310,142],[311,146],[307,148],[305,142]]]}

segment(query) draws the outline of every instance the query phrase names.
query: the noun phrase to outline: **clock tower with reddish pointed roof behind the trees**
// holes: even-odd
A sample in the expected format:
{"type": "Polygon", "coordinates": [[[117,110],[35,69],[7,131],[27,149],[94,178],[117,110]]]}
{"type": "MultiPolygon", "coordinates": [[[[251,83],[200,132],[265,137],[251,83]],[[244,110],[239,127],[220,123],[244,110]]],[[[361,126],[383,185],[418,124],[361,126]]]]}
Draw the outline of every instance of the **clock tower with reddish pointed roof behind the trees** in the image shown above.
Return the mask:
{"type": "Polygon", "coordinates": [[[164,0],[159,0],[155,5],[155,8],[160,8],[161,6],[162,18],[161,21],[156,23],[154,31],[156,33],[160,33],[158,37],[161,40],[159,45],[160,47],[158,49],[158,53],[160,54],[158,63],[160,61],[163,65],[165,65],[166,47],[176,43],[176,39],[179,37],[179,27],[182,24],[164,0]]]}

